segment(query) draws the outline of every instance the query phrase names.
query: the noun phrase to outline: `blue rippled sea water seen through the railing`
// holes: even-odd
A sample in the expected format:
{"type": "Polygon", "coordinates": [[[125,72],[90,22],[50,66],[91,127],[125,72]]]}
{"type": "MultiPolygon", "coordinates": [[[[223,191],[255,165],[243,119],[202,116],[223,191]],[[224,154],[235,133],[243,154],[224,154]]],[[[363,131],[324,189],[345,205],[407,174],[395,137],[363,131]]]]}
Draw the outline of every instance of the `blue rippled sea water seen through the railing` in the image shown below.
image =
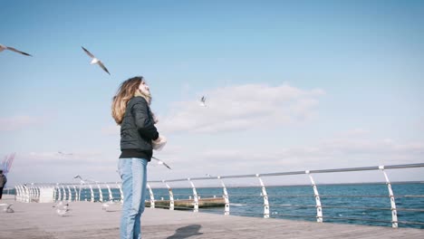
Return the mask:
{"type": "MultiPolygon", "coordinates": [[[[424,182],[391,185],[397,208],[398,226],[424,229],[424,182]]],[[[230,186],[226,188],[229,214],[264,217],[264,196],[261,187],[230,186]]],[[[103,201],[109,200],[108,190],[101,189],[103,201]]],[[[168,188],[152,188],[155,200],[169,200],[168,188]]],[[[117,199],[120,192],[111,189],[117,199]]],[[[191,188],[172,188],[174,200],[193,198],[191,188]]],[[[318,186],[324,223],[392,226],[388,186],[376,184],[347,184],[318,186]]],[[[222,187],[197,188],[201,198],[223,197],[222,187]]],[[[81,200],[89,198],[83,190],[81,200]]],[[[317,221],[316,201],[312,186],[266,186],[269,217],[289,220],[317,221]]],[[[100,194],[95,191],[95,201],[100,194]]],[[[149,193],[146,200],[149,200],[149,193]]],[[[192,210],[190,208],[176,208],[192,210]]],[[[224,214],[224,206],[199,208],[199,212],[224,214]]]]}

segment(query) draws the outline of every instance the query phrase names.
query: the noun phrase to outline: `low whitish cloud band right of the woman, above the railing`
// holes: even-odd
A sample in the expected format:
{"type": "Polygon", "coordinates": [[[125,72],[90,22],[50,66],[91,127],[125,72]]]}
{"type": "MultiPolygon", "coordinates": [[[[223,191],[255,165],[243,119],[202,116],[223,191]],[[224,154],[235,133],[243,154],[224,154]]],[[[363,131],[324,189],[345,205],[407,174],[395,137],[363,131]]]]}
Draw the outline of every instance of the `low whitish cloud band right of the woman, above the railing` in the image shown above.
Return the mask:
{"type": "MultiPolygon", "coordinates": [[[[264,174],[298,170],[330,169],[344,167],[375,167],[380,165],[401,165],[422,162],[424,156],[423,142],[398,143],[387,139],[369,139],[365,137],[352,139],[349,136],[337,136],[323,139],[311,146],[290,148],[214,148],[213,150],[194,151],[180,148],[180,153],[161,152],[172,171],[155,168],[150,178],[173,179],[184,177],[264,174]],[[166,174],[164,174],[166,173],[166,174]]],[[[421,170],[422,171],[422,170],[421,170]]],[[[422,173],[422,172],[421,172],[422,173]]],[[[361,182],[362,174],[344,177],[346,180],[361,182]]],[[[422,174],[401,173],[397,180],[423,180],[422,174]]],[[[337,177],[340,177],[338,175],[337,177]]],[[[331,179],[331,178],[330,178],[331,179]]],[[[328,179],[326,182],[329,183],[328,179]]],[[[373,180],[382,180],[380,173],[375,173],[373,180]]]]}

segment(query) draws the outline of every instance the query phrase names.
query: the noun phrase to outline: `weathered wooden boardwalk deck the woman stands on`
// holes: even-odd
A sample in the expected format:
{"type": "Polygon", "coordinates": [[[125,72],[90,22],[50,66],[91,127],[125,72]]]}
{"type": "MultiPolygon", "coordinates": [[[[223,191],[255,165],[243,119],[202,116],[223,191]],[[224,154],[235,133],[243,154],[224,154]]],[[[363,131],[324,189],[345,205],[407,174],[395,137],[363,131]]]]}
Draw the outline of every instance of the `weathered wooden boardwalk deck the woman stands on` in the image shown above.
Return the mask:
{"type": "MultiPolygon", "coordinates": [[[[56,215],[53,204],[14,203],[14,213],[0,212],[0,238],[119,238],[120,211],[101,210],[101,203],[72,202],[68,216],[56,215]]],[[[341,225],[234,215],[146,208],[143,239],[180,238],[424,238],[424,230],[369,225],[341,225]]]]}

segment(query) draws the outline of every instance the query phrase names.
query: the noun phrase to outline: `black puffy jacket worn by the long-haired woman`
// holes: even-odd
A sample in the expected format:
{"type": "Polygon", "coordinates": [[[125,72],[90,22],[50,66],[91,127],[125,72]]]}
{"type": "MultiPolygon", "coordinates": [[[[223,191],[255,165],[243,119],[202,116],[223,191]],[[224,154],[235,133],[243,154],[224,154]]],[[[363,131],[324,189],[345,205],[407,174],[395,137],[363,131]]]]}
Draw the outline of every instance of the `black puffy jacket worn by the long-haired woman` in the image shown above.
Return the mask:
{"type": "Polygon", "coordinates": [[[150,161],[151,140],[159,137],[153,122],[147,100],[133,97],[120,124],[120,158],[147,158],[150,161]]]}

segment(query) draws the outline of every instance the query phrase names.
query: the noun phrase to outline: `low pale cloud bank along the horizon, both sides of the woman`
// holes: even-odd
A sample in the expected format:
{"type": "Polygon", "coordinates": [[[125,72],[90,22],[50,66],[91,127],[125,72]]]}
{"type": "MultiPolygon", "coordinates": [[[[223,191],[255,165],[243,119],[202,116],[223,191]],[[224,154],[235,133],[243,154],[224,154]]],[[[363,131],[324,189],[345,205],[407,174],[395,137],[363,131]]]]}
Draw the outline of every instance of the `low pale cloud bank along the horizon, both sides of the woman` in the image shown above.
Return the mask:
{"type": "MultiPolygon", "coordinates": [[[[348,130],[351,131],[351,130],[348,130]]],[[[76,174],[99,181],[119,181],[116,173],[119,152],[68,152],[72,156],[61,156],[57,152],[33,152],[16,154],[11,170],[11,184],[24,182],[70,182],[76,174]],[[12,183],[13,182],[13,183],[12,183]]],[[[393,139],[371,139],[369,133],[352,138],[337,134],[332,139],[322,139],[311,145],[255,148],[226,145],[214,149],[190,148],[177,143],[167,145],[155,156],[164,160],[172,170],[149,164],[149,180],[187,177],[265,174],[298,170],[313,170],[338,167],[371,167],[422,162],[424,142],[397,142],[393,139]]],[[[391,174],[391,172],[390,172],[391,174]]],[[[379,172],[367,180],[383,180],[379,172]]],[[[396,180],[422,180],[421,173],[393,173],[396,180]]],[[[332,174],[320,182],[361,182],[361,174],[345,176],[332,174]],[[344,179],[343,179],[344,177],[344,179]],[[346,179],[347,178],[347,179],[346,179]],[[340,179],[340,181],[339,181],[340,179]]],[[[284,177],[283,179],[285,180],[284,177]]],[[[304,178],[304,177],[301,177],[304,178]]],[[[307,177],[305,177],[307,179],[307,177]]],[[[323,178],[323,177],[319,177],[323,178]]],[[[306,180],[305,179],[305,180],[306,180]]],[[[391,176],[390,176],[391,179],[391,176]]],[[[241,181],[240,181],[241,182],[241,181]]],[[[284,181],[282,183],[289,183],[284,181]]],[[[296,183],[297,181],[293,181],[296,183]]],[[[237,182],[233,182],[236,184],[237,182]]],[[[271,182],[274,183],[274,182],[271,182]]],[[[306,180],[304,183],[308,183],[306,180]]]]}

